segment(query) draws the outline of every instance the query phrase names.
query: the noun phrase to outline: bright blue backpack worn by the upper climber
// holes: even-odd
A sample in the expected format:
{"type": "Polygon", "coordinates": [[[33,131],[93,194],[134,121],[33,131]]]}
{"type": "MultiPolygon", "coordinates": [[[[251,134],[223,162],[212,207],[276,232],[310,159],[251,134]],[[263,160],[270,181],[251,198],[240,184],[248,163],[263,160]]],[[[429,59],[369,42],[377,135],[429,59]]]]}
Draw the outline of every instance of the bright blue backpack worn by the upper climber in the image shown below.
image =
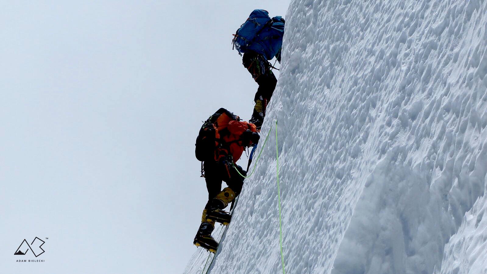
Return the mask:
{"type": "Polygon", "coordinates": [[[266,10],[254,10],[234,34],[233,48],[239,54],[249,51],[262,54],[270,60],[282,47],[284,19],[281,16],[269,17],[266,10]]]}

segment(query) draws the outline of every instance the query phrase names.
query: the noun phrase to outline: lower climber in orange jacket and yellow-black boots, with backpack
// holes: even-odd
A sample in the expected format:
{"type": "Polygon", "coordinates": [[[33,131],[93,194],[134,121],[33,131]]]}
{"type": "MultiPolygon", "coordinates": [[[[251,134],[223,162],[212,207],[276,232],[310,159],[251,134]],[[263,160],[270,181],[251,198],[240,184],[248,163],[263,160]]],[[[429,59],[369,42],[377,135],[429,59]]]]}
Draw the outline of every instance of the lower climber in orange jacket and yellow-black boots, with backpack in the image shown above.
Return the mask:
{"type": "Polygon", "coordinates": [[[240,174],[246,173],[236,162],[244,149],[257,144],[259,138],[254,124],[240,121],[238,116],[224,108],[203,124],[196,139],[196,157],[204,162],[208,202],[203,210],[194,245],[216,252],[218,242],[211,236],[215,221],[224,225],[230,223],[231,216],[223,209],[240,194],[244,185],[244,177],[240,174]],[[223,191],[222,181],[228,185],[223,191]]]}

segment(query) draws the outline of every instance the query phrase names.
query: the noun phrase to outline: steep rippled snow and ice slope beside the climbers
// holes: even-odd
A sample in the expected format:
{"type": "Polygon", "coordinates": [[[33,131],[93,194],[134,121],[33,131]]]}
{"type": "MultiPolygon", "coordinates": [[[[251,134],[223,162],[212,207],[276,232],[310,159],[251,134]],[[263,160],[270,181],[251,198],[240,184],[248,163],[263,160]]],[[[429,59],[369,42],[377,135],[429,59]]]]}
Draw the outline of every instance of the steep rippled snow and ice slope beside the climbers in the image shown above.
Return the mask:
{"type": "MultiPolygon", "coordinates": [[[[487,273],[487,0],[295,0],[285,19],[262,132],[279,121],[286,273],[487,273]]],[[[209,273],[282,273],[275,141],[209,273]]]]}

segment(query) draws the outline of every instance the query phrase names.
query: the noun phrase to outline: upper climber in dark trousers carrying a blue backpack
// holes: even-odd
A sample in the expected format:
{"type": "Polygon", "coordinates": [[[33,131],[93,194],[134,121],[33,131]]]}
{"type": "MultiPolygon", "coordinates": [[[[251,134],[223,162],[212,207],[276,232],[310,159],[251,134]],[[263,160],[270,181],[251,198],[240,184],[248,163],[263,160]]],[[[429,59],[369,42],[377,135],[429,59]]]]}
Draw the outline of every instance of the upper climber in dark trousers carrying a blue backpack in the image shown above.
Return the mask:
{"type": "Polygon", "coordinates": [[[277,79],[272,73],[274,66],[268,60],[275,57],[281,63],[284,22],[281,16],[270,18],[266,10],[256,9],[233,35],[233,48],[240,55],[243,54],[244,67],[259,85],[254,97],[254,110],[249,120],[258,130],[262,126],[267,103],[277,84],[277,79]]]}

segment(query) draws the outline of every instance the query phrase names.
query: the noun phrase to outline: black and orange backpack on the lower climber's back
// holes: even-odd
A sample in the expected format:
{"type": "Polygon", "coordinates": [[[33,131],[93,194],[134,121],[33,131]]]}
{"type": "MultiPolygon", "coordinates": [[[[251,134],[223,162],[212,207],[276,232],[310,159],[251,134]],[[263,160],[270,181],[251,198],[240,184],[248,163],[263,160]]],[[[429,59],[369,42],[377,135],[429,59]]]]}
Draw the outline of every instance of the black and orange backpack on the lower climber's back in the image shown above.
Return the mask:
{"type": "Polygon", "coordinates": [[[216,149],[222,145],[220,137],[229,134],[226,128],[228,122],[240,120],[240,117],[224,108],[217,110],[215,114],[206,119],[196,137],[196,158],[202,162],[215,160],[216,149]]]}

